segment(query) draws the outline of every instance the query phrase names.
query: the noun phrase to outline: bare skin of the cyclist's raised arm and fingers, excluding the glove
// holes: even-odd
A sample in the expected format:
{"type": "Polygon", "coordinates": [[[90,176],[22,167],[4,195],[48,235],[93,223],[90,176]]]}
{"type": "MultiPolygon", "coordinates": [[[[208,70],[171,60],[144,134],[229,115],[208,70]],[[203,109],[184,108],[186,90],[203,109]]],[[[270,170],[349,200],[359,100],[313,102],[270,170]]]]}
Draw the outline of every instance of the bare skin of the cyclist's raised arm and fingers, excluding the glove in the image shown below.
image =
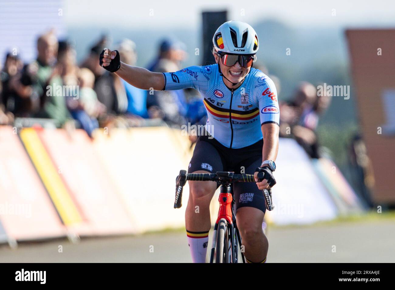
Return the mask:
{"type": "MultiPolygon", "coordinates": [[[[116,51],[110,51],[103,56],[103,66],[110,65],[111,60],[117,54],[116,51]]],[[[162,73],[153,73],[143,67],[135,67],[121,62],[120,68],[115,72],[117,76],[126,80],[132,86],[142,90],[162,90],[165,86],[165,80],[162,73]]]]}

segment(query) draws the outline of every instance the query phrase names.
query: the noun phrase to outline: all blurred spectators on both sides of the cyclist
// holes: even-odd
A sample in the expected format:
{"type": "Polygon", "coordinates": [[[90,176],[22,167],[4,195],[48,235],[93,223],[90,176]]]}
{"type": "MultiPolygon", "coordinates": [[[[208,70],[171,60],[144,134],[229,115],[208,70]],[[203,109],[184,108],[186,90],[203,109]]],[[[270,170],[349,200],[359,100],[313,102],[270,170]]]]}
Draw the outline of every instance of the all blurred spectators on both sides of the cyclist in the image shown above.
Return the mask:
{"type": "MultiPolygon", "coordinates": [[[[203,125],[207,114],[194,89],[145,91],[135,88],[99,65],[99,55],[109,47],[103,36],[77,64],[76,52],[67,41],[58,41],[49,31],[37,40],[37,59],[24,64],[9,52],[0,71],[0,125],[12,125],[17,118],[51,120],[56,127],[83,128],[90,137],[99,127],[138,127],[203,125]]],[[[123,39],[114,47],[122,62],[136,65],[136,44],[123,39]]],[[[177,39],[164,39],[157,57],[147,66],[154,72],[181,69],[185,45],[177,39]]],[[[269,75],[267,69],[254,65],[269,75]]],[[[280,80],[269,75],[280,92],[280,80]]],[[[284,98],[285,99],[285,98],[284,98]]],[[[317,137],[320,117],[331,104],[331,95],[319,95],[316,86],[302,82],[288,101],[280,101],[280,137],[294,138],[311,158],[322,156],[317,137]]],[[[197,136],[190,136],[196,142],[197,136]]],[[[361,137],[350,140],[349,164],[352,183],[371,206],[369,191],[372,173],[361,137]],[[361,182],[362,181],[362,182],[361,182]]]]}

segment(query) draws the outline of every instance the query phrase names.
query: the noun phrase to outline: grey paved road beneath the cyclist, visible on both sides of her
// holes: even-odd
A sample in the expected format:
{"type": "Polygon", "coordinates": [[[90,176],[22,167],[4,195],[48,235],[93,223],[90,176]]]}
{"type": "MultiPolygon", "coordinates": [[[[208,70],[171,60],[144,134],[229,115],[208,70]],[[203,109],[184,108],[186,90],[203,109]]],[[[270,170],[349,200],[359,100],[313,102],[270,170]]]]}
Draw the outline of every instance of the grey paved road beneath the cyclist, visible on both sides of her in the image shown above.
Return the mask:
{"type": "MultiPolygon", "coordinates": [[[[210,234],[210,239],[212,235],[210,234]]],[[[268,262],[395,262],[395,222],[270,228],[268,262]],[[333,253],[333,246],[336,252],[333,253]]],[[[191,262],[184,232],[0,246],[0,262],[191,262]],[[62,253],[58,252],[62,245],[62,253]]]]}

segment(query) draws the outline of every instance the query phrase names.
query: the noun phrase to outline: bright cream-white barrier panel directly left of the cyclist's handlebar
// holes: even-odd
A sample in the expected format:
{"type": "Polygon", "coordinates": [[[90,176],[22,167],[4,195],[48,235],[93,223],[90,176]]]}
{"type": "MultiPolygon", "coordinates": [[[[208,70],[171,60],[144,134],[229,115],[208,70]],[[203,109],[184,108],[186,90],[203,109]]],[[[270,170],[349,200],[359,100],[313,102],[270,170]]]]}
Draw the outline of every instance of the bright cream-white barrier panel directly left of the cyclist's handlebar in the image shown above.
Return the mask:
{"type": "Polygon", "coordinates": [[[136,232],[185,225],[188,183],[182,208],[174,209],[175,179],[187,170],[192,151],[188,136],[165,127],[95,132],[94,146],[132,217],[136,232]]]}

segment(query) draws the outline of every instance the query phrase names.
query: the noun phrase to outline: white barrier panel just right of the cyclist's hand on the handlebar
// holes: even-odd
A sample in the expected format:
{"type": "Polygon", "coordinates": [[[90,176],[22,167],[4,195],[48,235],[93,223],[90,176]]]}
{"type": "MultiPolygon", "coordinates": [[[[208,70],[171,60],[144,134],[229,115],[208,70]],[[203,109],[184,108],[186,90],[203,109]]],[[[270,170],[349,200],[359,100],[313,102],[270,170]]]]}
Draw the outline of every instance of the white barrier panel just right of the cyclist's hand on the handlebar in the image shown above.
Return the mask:
{"type": "Polygon", "coordinates": [[[267,219],[279,225],[309,224],[337,216],[337,208],[312,163],[293,139],[280,138],[273,187],[273,211],[267,219]]]}

